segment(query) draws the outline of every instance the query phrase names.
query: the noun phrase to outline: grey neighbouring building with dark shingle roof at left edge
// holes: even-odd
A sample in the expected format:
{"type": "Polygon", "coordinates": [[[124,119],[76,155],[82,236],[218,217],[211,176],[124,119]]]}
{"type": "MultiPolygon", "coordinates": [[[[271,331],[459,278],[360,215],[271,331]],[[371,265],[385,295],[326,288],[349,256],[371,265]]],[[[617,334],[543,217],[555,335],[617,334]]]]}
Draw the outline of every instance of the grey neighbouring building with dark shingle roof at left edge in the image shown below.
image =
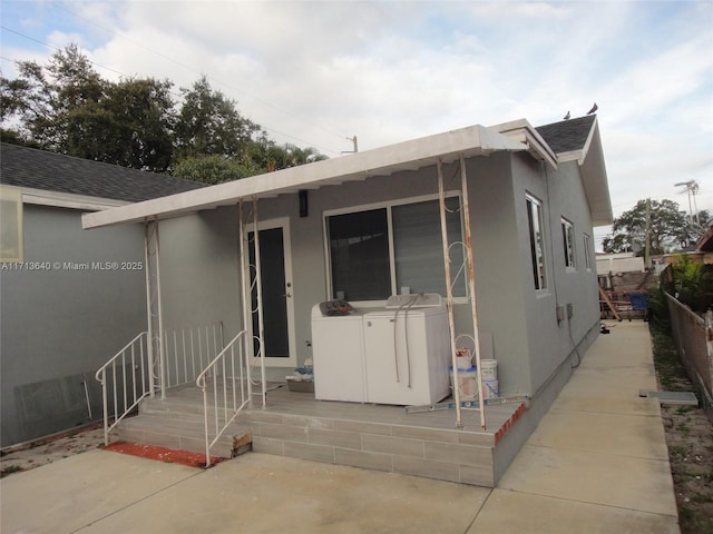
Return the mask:
{"type": "Polygon", "coordinates": [[[86,233],[81,215],[201,187],[1,145],[3,447],[100,419],[94,375],[145,328],[143,228],[86,233]]]}

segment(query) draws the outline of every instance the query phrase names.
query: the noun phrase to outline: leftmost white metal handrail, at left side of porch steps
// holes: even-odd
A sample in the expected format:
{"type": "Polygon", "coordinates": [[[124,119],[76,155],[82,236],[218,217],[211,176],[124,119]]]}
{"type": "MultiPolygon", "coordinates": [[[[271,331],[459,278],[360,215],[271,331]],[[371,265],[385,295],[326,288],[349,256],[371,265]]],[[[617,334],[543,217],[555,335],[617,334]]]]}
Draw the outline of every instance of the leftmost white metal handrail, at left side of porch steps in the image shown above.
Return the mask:
{"type": "Polygon", "coordinates": [[[104,444],[109,444],[109,431],[111,431],[119,422],[130,413],[138,403],[150,394],[148,385],[148,333],[141,332],[131,339],[121,350],[119,350],[111,359],[104,364],[97,374],[96,379],[101,384],[101,402],[104,406],[104,444]],[[117,387],[117,366],[120,365],[120,390],[123,393],[121,403],[119,403],[119,387],[117,387]],[[130,369],[127,370],[127,365],[130,369]],[[107,384],[107,370],[110,372],[111,390],[114,394],[114,423],[109,426],[109,392],[107,384]],[[140,379],[139,379],[140,377],[140,379]],[[129,385],[130,383],[130,385],[129,385]],[[129,392],[130,389],[130,392],[129,392]],[[131,404],[128,404],[129,393],[131,404]],[[119,414],[119,406],[123,405],[124,412],[119,414]]]}

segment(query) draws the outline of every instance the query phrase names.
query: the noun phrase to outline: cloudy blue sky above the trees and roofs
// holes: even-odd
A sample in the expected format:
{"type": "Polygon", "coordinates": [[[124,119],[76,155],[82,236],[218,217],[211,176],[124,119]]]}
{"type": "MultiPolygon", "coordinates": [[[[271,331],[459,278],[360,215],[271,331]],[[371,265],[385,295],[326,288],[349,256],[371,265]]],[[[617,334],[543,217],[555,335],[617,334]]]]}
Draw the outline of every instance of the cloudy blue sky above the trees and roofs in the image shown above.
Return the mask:
{"type": "MultiPolygon", "coordinates": [[[[0,1],[0,67],[76,42],[108,79],[206,75],[330,157],[599,106],[615,216],[694,179],[713,210],[713,2],[0,1]],[[39,41],[39,42],[38,42],[39,41]],[[99,67],[100,66],[100,67],[99,67]],[[109,70],[105,70],[104,67],[109,70]]],[[[606,233],[597,230],[597,237],[606,233]]]]}

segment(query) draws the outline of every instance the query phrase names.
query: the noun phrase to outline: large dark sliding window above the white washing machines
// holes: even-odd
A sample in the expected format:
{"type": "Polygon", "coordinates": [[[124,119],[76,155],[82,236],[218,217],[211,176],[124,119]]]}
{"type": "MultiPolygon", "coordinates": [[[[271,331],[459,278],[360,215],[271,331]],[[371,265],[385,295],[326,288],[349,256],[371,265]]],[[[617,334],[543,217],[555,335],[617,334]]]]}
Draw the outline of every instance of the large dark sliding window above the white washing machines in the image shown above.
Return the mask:
{"type": "MultiPolygon", "coordinates": [[[[459,198],[446,199],[448,239],[462,240],[459,198]]],[[[446,295],[438,200],[384,206],[326,217],[332,295],[383,300],[411,293],[446,295]]],[[[466,295],[462,245],[450,248],[455,296],[466,295]]]]}

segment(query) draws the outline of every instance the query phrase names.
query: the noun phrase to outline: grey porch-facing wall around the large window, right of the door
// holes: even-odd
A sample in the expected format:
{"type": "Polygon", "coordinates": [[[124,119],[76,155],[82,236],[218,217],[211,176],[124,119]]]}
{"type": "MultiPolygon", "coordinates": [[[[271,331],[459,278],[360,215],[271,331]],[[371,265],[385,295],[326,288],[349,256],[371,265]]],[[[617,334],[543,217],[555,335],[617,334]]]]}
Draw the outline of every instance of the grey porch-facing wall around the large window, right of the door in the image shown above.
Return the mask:
{"type": "MultiPolygon", "coordinates": [[[[510,157],[497,154],[467,161],[475,254],[476,291],[480,332],[492,335],[495,357],[499,362],[501,384],[508,393],[529,393],[529,366],[525,328],[521,253],[516,246],[518,226],[510,177],[510,157]],[[497,280],[497,281],[494,281],[497,280]]],[[[534,169],[537,171],[537,169],[534,169]]],[[[445,181],[460,190],[457,165],[443,166],[445,181]],[[455,180],[452,178],[456,178],[455,180]]],[[[309,216],[299,217],[296,195],[261,200],[260,219],[290,216],[293,298],[297,362],[310,355],[311,309],[328,298],[328,273],[324,251],[324,211],[369,206],[403,198],[438,194],[436,167],[402,172],[364,182],[348,182],[309,191],[309,216]]],[[[524,199],[522,199],[524,209],[524,199]]],[[[472,334],[470,305],[455,306],[457,334],[472,334]]],[[[272,369],[271,369],[272,370],[272,369]]],[[[273,373],[284,374],[284,369],[273,373]]],[[[275,375],[275,377],[279,377],[275,375]]]]}

